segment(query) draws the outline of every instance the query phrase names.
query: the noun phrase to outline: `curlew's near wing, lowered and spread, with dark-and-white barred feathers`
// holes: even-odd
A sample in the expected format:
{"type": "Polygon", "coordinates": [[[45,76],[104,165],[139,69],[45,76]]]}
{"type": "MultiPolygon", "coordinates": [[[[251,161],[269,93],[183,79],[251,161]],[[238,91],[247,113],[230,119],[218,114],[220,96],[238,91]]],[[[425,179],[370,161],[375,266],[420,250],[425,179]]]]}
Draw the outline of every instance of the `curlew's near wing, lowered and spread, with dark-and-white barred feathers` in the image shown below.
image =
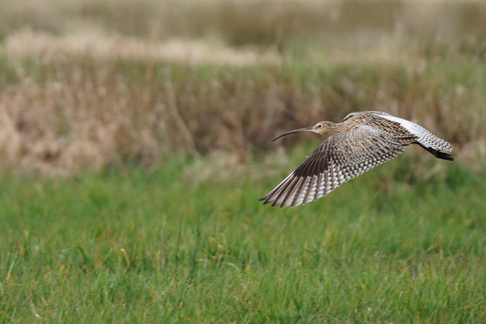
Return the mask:
{"type": "Polygon", "coordinates": [[[277,188],[261,198],[263,205],[274,202],[295,207],[327,195],[364,171],[403,153],[417,136],[396,136],[360,125],[357,129],[329,136],[277,188]]]}

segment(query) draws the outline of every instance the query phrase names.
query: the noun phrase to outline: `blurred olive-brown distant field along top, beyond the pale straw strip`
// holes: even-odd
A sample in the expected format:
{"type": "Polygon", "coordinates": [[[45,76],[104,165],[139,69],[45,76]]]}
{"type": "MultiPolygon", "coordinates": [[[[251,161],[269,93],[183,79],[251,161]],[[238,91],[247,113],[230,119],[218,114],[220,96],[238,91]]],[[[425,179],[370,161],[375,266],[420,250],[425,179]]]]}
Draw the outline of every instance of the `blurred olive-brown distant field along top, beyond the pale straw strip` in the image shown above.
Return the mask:
{"type": "Polygon", "coordinates": [[[483,1],[2,0],[0,8],[3,36],[26,27],[60,34],[90,26],[136,37],[218,36],[285,51],[366,31],[403,33],[424,55],[459,49],[485,59],[483,1]]]}

